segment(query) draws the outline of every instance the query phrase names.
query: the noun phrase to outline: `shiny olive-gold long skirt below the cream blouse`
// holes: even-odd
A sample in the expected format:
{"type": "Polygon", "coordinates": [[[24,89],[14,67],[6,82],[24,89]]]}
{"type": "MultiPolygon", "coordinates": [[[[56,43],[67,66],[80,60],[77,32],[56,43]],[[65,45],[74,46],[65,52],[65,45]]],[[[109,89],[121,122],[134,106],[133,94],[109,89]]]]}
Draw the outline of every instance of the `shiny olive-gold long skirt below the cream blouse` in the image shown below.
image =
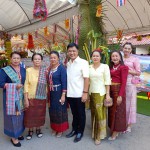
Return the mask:
{"type": "Polygon", "coordinates": [[[106,137],[106,107],[104,97],[99,93],[91,93],[90,108],[92,121],[92,138],[100,141],[106,137]]]}

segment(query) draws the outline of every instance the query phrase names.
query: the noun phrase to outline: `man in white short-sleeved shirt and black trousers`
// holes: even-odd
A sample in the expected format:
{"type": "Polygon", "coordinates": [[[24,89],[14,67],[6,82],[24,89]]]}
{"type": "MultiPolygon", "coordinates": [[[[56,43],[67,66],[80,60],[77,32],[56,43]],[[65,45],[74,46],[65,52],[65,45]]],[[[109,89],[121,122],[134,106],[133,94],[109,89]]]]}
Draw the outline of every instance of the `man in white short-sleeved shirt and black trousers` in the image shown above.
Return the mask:
{"type": "Polygon", "coordinates": [[[67,100],[73,115],[72,131],[66,135],[76,135],[74,142],[81,140],[85,128],[85,101],[88,98],[89,64],[78,56],[79,48],[75,43],[67,46],[70,61],[67,63],[67,100]]]}

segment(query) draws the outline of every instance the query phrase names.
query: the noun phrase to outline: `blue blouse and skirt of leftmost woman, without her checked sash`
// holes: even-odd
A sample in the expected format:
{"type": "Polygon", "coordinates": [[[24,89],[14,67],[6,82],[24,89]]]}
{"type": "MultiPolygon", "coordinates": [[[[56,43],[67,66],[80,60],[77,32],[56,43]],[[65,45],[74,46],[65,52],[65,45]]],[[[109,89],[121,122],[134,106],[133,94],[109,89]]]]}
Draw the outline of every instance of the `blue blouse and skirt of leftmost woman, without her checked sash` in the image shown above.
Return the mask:
{"type": "MultiPolygon", "coordinates": [[[[15,70],[14,70],[15,71],[15,70]]],[[[21,83],[24,84],[26,70],[20,68],[21,83]]],[[[3,69],[0,69],[0,88],[4,88],[5,83],[12,83],[11,79],[7,76],[3,69]]],[[[10,137],[18,138],[24,132],[23,116],[6,115],[6,89],[3,90],[3,111],[4,111],[4,133],[10,137]]]]}

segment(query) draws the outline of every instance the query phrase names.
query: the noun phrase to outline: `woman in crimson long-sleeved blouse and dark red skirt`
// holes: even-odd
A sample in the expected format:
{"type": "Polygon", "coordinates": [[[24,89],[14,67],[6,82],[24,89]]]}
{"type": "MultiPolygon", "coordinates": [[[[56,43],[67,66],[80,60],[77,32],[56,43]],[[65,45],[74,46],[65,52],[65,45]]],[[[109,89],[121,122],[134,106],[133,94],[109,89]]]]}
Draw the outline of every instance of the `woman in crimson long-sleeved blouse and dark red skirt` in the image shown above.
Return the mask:
{"type": "Polygon", "coordinates": [[[115,140],[119,132],[126,131],[126,96],[125,88],[128,75],[128,67],[124,65],[121,53],[111,53],[110,74],[112,83],[110,96],[113,106],[108,108],[108,126],[111,131],[109,140],[115,140]]]}

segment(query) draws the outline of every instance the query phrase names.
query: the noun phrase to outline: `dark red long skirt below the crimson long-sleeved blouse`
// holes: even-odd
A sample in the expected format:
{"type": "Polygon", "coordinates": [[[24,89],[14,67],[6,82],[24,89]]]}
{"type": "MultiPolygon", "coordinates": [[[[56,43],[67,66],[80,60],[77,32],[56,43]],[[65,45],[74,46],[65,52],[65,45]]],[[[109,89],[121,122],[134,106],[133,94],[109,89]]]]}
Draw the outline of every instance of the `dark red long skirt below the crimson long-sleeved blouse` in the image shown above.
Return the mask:
{"type": "Polygon", "coordinates": [[[117,105],[117,97],[120,90],[120,85],[111,85],[110,93],[113,99],[113,106],[108,108],[108,126],[110,131],[123,132],[126,131],[126,98],[122,96],[122,102],[117,105]]]}

